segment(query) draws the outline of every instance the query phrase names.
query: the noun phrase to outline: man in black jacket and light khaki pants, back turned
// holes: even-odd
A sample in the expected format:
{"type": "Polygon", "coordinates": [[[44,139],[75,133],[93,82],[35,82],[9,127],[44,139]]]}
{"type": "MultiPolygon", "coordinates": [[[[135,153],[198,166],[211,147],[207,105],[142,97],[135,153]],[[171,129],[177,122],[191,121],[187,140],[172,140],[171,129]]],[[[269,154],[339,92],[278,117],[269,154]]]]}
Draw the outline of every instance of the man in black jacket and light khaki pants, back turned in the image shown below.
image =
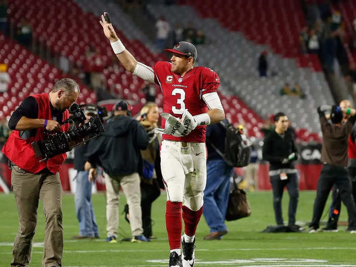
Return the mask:
{"type": "Polygon", "coordinates": [[[106,186],[107,242],[116,243],[118,229],[118,192],[120,187],[130,210],[132,242],[146,242],[142,229],[140,150],[146,149],[149,139],[140,123],[128,115],[130,105],[125,101],[114,107],[114,116],[105,125],[105,132],[89,143],[85,156],[91,163],[89,179],[96,175],[96,164],[104,169],[106,186]]]}

